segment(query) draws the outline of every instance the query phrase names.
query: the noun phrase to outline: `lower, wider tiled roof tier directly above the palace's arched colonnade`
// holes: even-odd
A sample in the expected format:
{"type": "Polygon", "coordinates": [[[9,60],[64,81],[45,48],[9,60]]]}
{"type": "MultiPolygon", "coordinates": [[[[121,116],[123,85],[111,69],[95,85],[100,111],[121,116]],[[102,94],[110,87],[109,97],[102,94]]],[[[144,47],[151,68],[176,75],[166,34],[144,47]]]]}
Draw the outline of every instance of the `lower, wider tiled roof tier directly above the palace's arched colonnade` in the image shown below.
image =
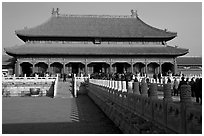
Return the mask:
{"type": "Polygon", "coordinates": [[[118,44],[62,44],[62,43],[26,43],[21,46],[5,48],[7,54],[18,55],[171,55],[182,56],[188,49],[163,45],[118,45],[118,44]]]}

